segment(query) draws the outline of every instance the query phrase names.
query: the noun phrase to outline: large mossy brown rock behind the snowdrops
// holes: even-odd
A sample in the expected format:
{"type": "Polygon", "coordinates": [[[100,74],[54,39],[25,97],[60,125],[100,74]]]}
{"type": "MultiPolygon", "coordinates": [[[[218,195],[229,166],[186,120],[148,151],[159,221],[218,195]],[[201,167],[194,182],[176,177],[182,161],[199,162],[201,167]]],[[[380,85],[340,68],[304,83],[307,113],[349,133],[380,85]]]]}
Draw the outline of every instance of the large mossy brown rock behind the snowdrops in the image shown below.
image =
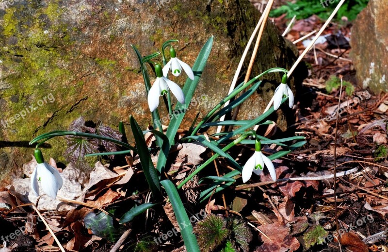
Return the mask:
{"type": "MultiPolygon", "coordinates": [[[[31,159],[28,142],[34,136],[67,129],[81,115],[112,127],[120,120],[128,123],[133,115],[146,126],[151,117],[130,44],[146,55],[159,50],[167,39],[177,38],[178,57],[193,65],[214,35],[194,95],[201,101],[206,94],[207,102],[190,109],[183,125],[187,127],[198,111],[202,117],[226,95],[259,19],[248,0],[19,0],[5,7],[0,10],[1,174],[31,159]]],[[[253,74],[276,66],[290,68],[296,53],[270,22],[253,74]]],[[[281,76],[267,78],[274,81],[242,107],[241,118],[254,118],[264,110],[281,76]]],[[[175,80],[183,84],[185,78],[175,80]]],[[[278,115],[284,129],[285,119],[278,115]]],[[[64,161],[64,139],[49,143],[52,148],[45,155],[64,161]]]]}

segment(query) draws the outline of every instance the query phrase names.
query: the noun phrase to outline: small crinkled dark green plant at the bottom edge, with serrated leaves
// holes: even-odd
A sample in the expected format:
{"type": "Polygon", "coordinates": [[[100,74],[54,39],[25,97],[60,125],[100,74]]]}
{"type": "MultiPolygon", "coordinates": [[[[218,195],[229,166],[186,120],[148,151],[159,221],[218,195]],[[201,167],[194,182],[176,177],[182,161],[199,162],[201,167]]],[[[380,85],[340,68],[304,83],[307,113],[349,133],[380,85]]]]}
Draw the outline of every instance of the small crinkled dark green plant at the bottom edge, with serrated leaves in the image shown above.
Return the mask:
{"type": "Polygon", "coordinates": [[[210,214],[194,227],[203,252],[249,251],[252,232],[239,218],[223,218],[210,214]]]}

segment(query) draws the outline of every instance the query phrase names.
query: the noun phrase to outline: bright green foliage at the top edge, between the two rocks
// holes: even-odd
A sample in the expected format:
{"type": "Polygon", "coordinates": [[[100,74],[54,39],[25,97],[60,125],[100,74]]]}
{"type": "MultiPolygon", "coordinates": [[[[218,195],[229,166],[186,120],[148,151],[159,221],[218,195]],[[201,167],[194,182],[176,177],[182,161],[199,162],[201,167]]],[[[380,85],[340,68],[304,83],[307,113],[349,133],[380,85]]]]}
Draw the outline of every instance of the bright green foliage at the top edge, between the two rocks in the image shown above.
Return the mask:
{"type": "MultiPolygon", "coordinates": [[[[337,0],[338,1],[338,0],[337,0]]],[[[340,20],[341,17],[347,17],[349,20],[354,20],[357,17],[357,14],[364,9],[369,0],[348,0],[346,1],[341,8],[339,8],[337,20],[340,20]]],[[[287,1],[286,4],[280,6],[279,8],[271,11],[271,17],[279,17],[287,13],[287,18],[292,18],[296,16],[297,19],[303,19],[310,17],[312,15],[317,15],[322,19],[327,19],[333,10],[336,8],[337,4],[330,4],[325,0],[297,0],[297,1],[287,1]]]]}

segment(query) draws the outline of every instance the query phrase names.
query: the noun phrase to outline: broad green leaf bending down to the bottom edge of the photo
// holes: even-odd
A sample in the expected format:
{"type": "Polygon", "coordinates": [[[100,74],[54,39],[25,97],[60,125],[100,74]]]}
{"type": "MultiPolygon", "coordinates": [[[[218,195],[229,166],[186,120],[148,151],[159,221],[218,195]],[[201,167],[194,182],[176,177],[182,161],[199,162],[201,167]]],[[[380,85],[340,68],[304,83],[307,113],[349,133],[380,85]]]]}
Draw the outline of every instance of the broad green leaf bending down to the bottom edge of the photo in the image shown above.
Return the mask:
{"type": "Polygon", "coordinates": [[[170,180],[163,180],[161,181],[161,184],[166,190],[171,205],[173,206],[186,250],[190,252],[199,252],[198,242],[193,234],[193,226],[187,216],[185,207],[180,200],[177,188],[170,180]]]}

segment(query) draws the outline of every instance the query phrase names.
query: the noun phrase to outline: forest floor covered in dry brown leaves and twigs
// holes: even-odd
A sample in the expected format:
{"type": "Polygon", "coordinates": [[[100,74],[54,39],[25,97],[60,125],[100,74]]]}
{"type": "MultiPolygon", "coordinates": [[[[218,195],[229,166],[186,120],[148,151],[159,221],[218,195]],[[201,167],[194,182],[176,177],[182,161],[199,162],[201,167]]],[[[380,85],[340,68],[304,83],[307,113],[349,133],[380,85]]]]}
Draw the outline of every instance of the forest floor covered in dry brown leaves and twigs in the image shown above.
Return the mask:
{"type": "MultiPolygon", "coordinates": [[[[280,31],[285,30],[288,21],[284,17],[274,19],[280,31]]],[[[323,22],[316,16],[297,20],[286,37],[295,41],[319,29],[323,22]]],[[[195,176],[182,187],[183,203],[188,213],[196,216],[193,224],[210,214],[242,219],[248,223],[243,227],[253,234],[249,251],[337,252],[340,251],[339,241],[332,236],[337,231],[342,234],[342,251],[388,251],[385,245],[388,235],[388,95],[372,94],[356,84],[355,69],[349,58],[351,26],[351,23],[332,23],[323,34],[331,34],[326,42],[317,44],[305,58],[308,77],[296,97],[293,110],[296,119],[281,136],[305,136],[307,143],[274,161],[277,178],[284,180],[273,183],[267,173],[254,175],[250,180],[252,184],[241,185],[240,179],[240,184],[228,186],[200,203],[198,196],[207,185],[200,183],[200,178],[215,173],[223,175],[233,169],[219,158],[208,172],[195,176]],[[341,172],[349,170],[352,172],[341,176],[341,172]],[[339,173],[336,201],[334,171],[339,173]],[[299,177],[314,180],[286,181],[299,177]]],[[[303,42],[296,46],[300,52],[305,49],[303,42]]],[[[182,130],[181,134],[184,132],[182,130]]],[[[274,129],[268,131],[267,137],[272,134],[275,134],[274,129]]],[[[155,138],[146,134],[146,140],[151,146],[155,138]]],[[[264,145],[263,153],[271,154],[279,149],[275,144],[264,145]]],[[[241,150],[252,151],[236,146],[230,152],[241,150]]],[[[212,153],[205,148],[193,150],[180,146],[166,177],[178,185],[203,161],[204,154],[212,153]]],[[[128,209],[149,202],[150,194],[139,160],[127,158],[126,161],[128,165],[111,170],[97,165],[90,174],[95,181],[89,183],[82,205],[55,211],[55,218],[49,219],[50,228],[67,251],[185,251],[180,235],[174,233],[178,223],[168,202],[156,206],[142,218],[135,218],[129,225],[116,226],[115,218],[102,215],[99,218],[105,218],[109,230],[93,223],[85,227],[84,219],[96,220],[97,210],[105,209],[120,216],[115,209],[121,211],[121,206],[128,209]],[[134,193],[128,197],[126,192],[134,193]],[[118,242],[109,241],[118,237],[121,237],[118,242]]],[[[34,165],[32,162],[26,167],[34,165]]],[[[13,186],[0,190],[2,202],[7,201],[13,207],[21,204],[19,197],[13,186]]],[[[48,216],[48,212],[43,212],[48,216]]],[[[29,235],[17,235],[15,231],[16,238],[10,237],[11,243],[16,244],[14,248],[0,248],[0,252],[34,251],[35,245],[38,251],[59,251],[44,223],[31,210],[12,209],[3,212],[2,217],[0,224],[4,228],[0,235],[21,226],[29,235]]]]}

